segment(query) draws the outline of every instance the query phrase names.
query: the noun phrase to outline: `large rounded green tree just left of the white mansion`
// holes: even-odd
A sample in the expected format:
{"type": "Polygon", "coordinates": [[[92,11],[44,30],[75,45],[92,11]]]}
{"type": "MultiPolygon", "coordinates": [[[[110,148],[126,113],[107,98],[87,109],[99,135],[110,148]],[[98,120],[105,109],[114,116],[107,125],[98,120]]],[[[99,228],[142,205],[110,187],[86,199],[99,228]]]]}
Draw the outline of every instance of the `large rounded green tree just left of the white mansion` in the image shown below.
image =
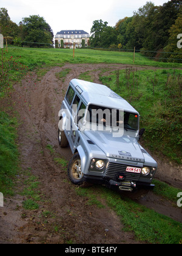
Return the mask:
{"type": "Polygon", "coordinates": [[[39,47],[48,44],[53,44],[53,32],[49,24],[43,17],[32,15],[29,18],[22,18],[22,30],[24,41],[27,41],[29,46],[39,47]],[[33,42],[33,43],[30,43],[33,42]]]}

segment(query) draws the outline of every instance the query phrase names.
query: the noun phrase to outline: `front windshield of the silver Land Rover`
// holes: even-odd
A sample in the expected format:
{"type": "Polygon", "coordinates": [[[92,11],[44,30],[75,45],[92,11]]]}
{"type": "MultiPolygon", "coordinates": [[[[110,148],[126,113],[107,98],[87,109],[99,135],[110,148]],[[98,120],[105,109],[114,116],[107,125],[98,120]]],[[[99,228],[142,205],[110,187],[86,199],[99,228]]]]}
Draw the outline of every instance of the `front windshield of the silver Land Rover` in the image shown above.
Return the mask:
{"type": "Polygon", "coordinates": [[[89,105],[86,121],[91,124],[112,128],[138,130],[138,114],[124,110],[89,105]]]}

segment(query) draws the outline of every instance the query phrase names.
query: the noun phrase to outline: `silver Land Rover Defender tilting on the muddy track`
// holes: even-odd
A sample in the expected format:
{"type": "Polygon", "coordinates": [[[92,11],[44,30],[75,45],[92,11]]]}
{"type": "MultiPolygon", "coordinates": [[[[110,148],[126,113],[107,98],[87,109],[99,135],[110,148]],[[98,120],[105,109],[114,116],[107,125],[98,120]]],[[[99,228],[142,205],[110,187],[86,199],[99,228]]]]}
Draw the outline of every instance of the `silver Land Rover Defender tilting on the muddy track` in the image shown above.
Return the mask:
{"type": "Polygon", "coordinates": [[[153,188],[157,162],[138,143],[139,113],[105,85],[70,81],[59,111],[59,146],[70,146],[69,179],[132,191],[153,188]]]}

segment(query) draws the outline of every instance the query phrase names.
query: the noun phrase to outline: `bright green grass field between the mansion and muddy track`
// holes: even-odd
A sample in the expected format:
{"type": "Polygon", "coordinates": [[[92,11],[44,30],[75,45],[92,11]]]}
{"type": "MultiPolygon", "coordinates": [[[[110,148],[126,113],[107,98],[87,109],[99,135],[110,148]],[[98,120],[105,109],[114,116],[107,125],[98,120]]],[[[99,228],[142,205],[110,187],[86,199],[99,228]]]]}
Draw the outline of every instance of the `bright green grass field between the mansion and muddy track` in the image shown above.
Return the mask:
{"type": "MultiPolygon", "coordinates": [[[[5,52],[5,49],[4,49],[5,52]]],[[[38,66],[55,66],[63,63],[122,63],[129,65],[146,65],[161,68],[182,68],[182,63],[155,62],[140,53],[135,53],[133,63],[133,52],[99,51],[93,49],[39,49],[39,48],[8,48],[7,57],[17,58],[21,56],[20,62],[34,69],[38,66]]]]}

